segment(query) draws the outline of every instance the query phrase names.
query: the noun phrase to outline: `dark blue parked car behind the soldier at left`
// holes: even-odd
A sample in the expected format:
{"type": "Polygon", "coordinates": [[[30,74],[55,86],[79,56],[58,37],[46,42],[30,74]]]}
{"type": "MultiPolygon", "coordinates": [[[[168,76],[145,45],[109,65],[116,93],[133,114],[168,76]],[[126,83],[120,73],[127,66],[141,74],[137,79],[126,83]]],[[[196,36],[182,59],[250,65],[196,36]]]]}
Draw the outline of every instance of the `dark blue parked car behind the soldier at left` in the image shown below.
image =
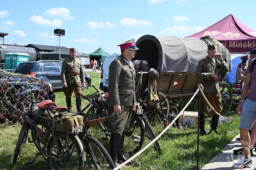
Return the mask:
{"type": "MultiPolygon", "coordinates": [[[[62,61],[58,60],[29,61],[20,63],[14,69],[14,73],[35,76],[36,78],[51,83],[52,89],[61,90],[63,88],[61,80],[61,66],[62,61]]],[[[91,77],[85,73],[84,78],[85,86],[83,86],[83,90],[88,89],[89,85],[91,85],[91,77]]]]}

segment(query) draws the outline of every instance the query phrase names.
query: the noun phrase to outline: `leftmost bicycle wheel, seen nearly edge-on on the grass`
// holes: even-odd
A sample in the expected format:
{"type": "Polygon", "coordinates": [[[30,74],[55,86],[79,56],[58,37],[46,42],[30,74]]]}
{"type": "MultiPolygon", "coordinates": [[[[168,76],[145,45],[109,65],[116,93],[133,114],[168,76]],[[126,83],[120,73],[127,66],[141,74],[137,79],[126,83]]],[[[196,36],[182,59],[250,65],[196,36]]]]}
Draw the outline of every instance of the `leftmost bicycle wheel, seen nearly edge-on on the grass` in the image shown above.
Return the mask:
{"type": "Polygon", "coordinates": [[[26,143],[27,135],[25,134],[24,129],[27,130],[27,132],[29,131],[29,126],[28,126],[28,123],[26,123],[26,122],[24,123],[24,128],[22,127],[20,129],[20,135],[19,135],[16,147],[14,149],[14,155],[13,155],[12,163],[17,162],[17,158],[19,157],[20,152],[22,151],[22,149],[23,149],[23,147],[26,143]]]}

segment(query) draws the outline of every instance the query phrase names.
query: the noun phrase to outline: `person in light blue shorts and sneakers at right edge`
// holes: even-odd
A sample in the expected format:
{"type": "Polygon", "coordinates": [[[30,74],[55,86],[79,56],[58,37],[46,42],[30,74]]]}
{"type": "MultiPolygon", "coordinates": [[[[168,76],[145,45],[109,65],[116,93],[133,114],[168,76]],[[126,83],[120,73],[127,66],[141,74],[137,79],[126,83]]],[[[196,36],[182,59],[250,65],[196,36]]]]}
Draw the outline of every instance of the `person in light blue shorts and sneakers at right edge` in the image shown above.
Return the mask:
{"type": "Polygon", "coordinates": [[[246,81],[241,92],[241,99],[236,108],[237,115],[241,115],[240,120],[240,138],[241,144],[243,146],[244,156],[234,163],[235,168],[243,168],[244,166],[249,166],[252,164],[250,149],[253,147],[256,139],[255,130],[256,126],[254,122],[256,121],[256,68],[252,69],[253,61],[249,62],[249,66],[246,69],[246,81]],[[251,138],[249,135],[249,129],[252,129],[251,138]],[[251,140],[253,139],[253,140],[251,140]]]}

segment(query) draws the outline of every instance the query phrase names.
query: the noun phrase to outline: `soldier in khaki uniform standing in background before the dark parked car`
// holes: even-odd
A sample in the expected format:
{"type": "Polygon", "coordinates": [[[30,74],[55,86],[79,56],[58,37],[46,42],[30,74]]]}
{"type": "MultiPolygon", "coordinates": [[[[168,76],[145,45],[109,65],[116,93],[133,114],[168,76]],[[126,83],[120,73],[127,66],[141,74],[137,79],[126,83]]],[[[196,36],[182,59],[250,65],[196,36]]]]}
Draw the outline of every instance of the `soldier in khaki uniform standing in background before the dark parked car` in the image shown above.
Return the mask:
{"type": "Polygon", "coordinates": [[[66,103],[69,112],[72,111],[71,95],[72,91],[76,96],[76,110],[81,111],[81,96],[76,94],[76,90],[82,91],[84,84],[84,71],[80,59],[76,58],[76,48],[69,51],[70,57],[64,59],[61,68],[61,79],[63,83],[63,92],[66,96],[66,103]]]}

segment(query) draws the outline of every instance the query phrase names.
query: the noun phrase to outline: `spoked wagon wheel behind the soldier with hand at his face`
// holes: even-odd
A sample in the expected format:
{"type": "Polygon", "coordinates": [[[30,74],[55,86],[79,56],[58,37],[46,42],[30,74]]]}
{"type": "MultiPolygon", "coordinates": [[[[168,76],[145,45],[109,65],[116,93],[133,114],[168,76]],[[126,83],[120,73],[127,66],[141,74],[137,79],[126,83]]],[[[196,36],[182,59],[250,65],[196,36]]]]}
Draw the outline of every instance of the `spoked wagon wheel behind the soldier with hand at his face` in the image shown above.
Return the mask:
{"type": "MultiPolygon", "coordinates": [[[[222,115],[226,116],[233,104],[233,90],[226,81],[219,82],[219,87],[221,92],[222,115]]],[[[209,117],[212,117],[212,109],[209,106],[207,106],[207,114],[209,117]]]]}

